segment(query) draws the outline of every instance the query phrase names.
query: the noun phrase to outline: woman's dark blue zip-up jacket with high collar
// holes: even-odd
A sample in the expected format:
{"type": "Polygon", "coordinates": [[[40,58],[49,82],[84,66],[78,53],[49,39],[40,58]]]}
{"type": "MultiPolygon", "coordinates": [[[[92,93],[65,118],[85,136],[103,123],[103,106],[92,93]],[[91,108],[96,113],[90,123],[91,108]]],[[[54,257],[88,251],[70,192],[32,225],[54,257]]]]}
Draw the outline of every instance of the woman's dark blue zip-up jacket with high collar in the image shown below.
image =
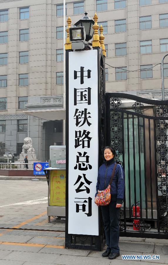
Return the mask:
{"type": "MultiPolygon", "coordinates": [[[[95,196],[97,195],[98,190],[103,191],[105,188],[108,187],[108,184],[110,182],[115,162],[114,160],[112,160],[111,163],[108,162],[110,161],[106,161],[99,168],[95,196]]],[[[124,190],[124,170],[120,164],[117,164],[115,168],[114,177],[110,186],[111,201],[116,201],[116,203],[122,204],[124,199],[124,190]]]]}

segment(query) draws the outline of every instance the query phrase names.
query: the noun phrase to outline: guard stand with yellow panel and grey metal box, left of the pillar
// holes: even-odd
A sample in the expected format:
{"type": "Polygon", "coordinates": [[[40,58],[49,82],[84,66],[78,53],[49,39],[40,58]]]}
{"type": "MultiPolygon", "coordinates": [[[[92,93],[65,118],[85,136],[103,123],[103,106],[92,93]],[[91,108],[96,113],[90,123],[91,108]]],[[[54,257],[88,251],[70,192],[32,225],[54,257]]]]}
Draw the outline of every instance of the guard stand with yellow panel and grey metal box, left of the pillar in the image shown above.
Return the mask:
{"type": "Polygon", "coordinates": [[[50,167],[44,169],[48,183],[48,222],[50,222],[50,216],[65,217],[65,145],[50,146],[49,165],[50,167]]]}

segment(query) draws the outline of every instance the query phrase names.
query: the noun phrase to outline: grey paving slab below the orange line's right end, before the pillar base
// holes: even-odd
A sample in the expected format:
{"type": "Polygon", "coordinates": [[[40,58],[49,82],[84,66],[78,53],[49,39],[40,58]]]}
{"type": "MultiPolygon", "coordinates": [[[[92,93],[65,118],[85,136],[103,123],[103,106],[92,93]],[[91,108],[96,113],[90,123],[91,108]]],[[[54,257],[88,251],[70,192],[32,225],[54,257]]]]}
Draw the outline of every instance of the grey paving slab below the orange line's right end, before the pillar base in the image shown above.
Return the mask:
{"type": "MultiPolygon", "coordinates": [[[[73,256],[87,256],[90,250],[80,250],[80,249],[59,249],[59,248],[49,248],[43,247],[39,253],[52,253],[52,254],[65,254],[73,256]]],[[[100,255],[100,252],[99,252],[100,255]]]]}

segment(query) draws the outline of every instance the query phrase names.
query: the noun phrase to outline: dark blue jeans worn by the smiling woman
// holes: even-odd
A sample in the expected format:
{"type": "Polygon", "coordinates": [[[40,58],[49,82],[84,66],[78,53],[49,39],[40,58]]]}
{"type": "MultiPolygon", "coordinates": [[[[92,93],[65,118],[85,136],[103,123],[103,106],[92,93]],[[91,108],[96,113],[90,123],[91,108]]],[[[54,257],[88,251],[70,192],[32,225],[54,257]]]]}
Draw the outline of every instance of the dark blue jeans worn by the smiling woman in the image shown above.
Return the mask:
{"type": "Polygon", "coordinates": [[[108,205],[101,206],[101,210],[103,215],[107,251],[119,253],[120,249],[118,241],[120,236],[120,208],[116,208],[116,201],[110,201],[108,205]]]}

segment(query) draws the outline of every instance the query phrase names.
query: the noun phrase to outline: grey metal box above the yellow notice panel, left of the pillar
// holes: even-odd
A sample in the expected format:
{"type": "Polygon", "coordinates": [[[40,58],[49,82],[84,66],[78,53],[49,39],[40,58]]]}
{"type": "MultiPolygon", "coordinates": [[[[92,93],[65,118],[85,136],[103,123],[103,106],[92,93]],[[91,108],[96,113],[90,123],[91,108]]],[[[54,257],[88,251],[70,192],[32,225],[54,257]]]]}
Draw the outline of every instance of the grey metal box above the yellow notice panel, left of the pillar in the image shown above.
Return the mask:
{"type": "Polygon", "coordinates": [[[65,168],[66,167],[66,146],[51,145],[50,146],[50,167],[65,168]]]}

